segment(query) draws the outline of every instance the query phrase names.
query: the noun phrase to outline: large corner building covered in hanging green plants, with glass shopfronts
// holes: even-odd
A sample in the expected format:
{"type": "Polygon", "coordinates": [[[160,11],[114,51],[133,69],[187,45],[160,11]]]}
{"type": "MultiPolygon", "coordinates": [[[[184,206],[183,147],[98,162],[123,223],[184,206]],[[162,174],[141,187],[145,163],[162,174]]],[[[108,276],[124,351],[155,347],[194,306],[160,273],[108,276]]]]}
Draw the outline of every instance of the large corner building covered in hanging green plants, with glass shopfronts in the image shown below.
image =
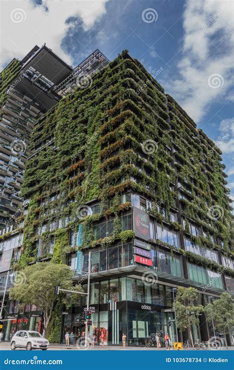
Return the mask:
{"type": "MultiPolygon", "coordinates": [[[[97,338],[147,345],[169,331],[173,288],[196,287],[202,304],[234,290],[221,152],[127,51],[37,121],[30,150],[15,268],[67,263],[85,291],[91,251],[97,338]]],[[[85,299],[54,310],[51,340],[83,332],[85,299]]],[[[200,321],[194,337],[208,339],[200,321]]]]}

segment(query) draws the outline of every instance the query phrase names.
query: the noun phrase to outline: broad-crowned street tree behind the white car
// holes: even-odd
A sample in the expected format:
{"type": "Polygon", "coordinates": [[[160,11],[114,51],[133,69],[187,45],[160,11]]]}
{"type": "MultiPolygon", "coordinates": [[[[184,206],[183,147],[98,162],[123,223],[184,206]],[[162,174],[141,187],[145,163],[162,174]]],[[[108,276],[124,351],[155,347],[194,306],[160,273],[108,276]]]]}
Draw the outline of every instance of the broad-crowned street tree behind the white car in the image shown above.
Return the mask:
{"type": "Polygon", "coordinates": [[[75,303],[80,297],[78,294],[61,293],[58,298],[54,293],[55,286],[80,292],[80,285],[73,285],[72,275],[67,265],[52,262],[38,262],[16,272],[9,298],[18,300],[21,305],[35,304],[43,312],[43,336],[46,336],[56,301],[60,299],[63,303],[75,303]]]}

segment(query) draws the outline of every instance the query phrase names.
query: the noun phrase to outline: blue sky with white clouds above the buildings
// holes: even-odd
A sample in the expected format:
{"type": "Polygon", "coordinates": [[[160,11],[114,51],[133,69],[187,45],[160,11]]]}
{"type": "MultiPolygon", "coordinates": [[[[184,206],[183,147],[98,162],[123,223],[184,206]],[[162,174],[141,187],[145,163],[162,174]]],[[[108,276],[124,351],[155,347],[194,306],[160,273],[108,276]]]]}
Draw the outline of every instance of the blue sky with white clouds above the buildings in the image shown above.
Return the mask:
{"type": "MultiPolygon", "coordinates": [[[[223,152],[234,200],[233,0],[2,0],[1,69],[46,45],[73,67],[129,50],[223,152]]],[[[234,203],[232,204],[234,207],[234,203]]]]}

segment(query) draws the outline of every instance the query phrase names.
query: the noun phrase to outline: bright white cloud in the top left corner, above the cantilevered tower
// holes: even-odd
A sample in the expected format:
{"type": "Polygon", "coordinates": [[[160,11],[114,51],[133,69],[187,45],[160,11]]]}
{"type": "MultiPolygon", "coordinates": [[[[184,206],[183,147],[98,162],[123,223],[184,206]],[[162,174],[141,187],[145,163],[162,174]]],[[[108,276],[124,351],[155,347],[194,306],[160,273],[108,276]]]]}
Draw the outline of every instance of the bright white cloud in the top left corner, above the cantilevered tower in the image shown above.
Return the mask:
{"type": "MultiPolygon", "coordinates": [[[[1,1],[2,66],[13,57],[24,57],[35,44],[41,46],[45,42],[59,57],[71,64],[71,55],[62,50],[61,41],[75,21],[70,24],[66,24],[66,21],[76,17],[78,24],[83,21],[83,28],[87,31],[105,14],[108,1],[42,0],[40,6],[34,6],[31,0],[1,1]],[[15,9],[21,10],[17,13],[15,9]],[[23,21],[16,23],[12,19],[23,21]]],[[[76,27],[76,24],[72,27],[76,27]]]]}

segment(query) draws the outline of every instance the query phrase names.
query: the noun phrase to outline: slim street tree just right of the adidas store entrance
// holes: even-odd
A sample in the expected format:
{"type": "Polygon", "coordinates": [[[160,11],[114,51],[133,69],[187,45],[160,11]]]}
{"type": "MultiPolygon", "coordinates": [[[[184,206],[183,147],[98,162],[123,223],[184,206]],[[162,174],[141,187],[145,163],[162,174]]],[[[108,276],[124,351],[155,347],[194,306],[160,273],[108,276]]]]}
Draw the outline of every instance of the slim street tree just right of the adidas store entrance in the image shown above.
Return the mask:
{"type": "Polygon", "coordinates": [[[177,327],[182,332],[186,329],[189,331],[192,346],[194,346],[192,326],[199,325],[199,314],[204,311],[204,307],[197,304],[197,300],[198,293],[195,288],[178,287],[175,299],[177,327]]]}

